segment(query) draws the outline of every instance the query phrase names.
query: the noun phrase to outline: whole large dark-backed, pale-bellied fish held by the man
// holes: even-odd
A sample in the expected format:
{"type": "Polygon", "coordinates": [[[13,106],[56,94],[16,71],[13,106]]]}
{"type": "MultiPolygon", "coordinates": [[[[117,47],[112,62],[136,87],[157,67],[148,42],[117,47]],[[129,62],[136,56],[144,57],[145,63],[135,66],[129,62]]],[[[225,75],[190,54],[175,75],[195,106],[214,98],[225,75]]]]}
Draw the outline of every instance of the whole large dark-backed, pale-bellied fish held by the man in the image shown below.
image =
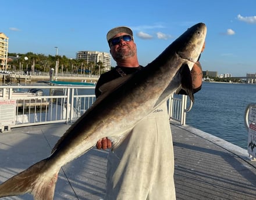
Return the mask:
{"type": "Polygon", "coordinates": [[[201,53],[207,29],[189,28],[152,63],[100,88],[101,96],[59,139],[52,154],[0,185],[0,197],[26,192],[36,200],[52,200],[61,166],[80,157],[102,137],[117,147],[129,130],[177,89],[193,99],[190,70],[201,53]]]}

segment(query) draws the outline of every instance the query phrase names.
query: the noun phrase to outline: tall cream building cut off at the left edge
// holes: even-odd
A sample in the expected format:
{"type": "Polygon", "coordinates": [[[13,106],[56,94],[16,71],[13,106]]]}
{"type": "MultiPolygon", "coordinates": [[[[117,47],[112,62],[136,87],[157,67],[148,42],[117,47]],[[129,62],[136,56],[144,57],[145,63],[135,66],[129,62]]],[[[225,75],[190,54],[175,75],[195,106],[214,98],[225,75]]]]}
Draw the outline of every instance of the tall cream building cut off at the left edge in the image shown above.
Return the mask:
{"type": "Polygon", "coordinates": [[[8,37],[0,32],[0,69],[7,70],[7,59],[8,59],[8,37]]]}

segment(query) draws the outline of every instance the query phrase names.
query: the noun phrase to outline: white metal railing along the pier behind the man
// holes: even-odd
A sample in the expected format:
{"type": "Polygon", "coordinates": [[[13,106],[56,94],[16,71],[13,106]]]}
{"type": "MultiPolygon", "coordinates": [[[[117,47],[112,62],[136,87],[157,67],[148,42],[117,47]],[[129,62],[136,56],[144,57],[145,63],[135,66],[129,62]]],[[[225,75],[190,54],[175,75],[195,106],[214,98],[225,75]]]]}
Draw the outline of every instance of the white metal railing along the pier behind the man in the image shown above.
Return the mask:
{"type": "MultiPolygon", "coordinates": [[[[0,131],[19,126],[70,123],[94,103],[92,86],[0,86],[0,131]],[[5,113],[8,112],[8,115],[5,113]]],[[[187,96],[171,96],[169,119],[186,124],[187,96]]]]}

